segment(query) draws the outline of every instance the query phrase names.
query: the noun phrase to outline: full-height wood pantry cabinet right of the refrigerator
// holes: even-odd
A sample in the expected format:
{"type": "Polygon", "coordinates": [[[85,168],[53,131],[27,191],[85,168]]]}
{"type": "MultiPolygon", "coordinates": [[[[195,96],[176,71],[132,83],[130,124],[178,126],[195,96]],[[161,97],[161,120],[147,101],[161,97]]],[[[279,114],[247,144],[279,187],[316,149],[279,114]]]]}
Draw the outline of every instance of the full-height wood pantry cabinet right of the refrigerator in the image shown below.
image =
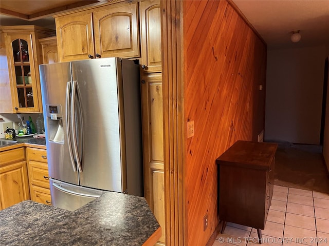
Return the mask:
{"type": "Polygon", "coordinates": [[[140,2],[144,196],[161,226],[162,235],[157,245],[164,245],[166,231],[160,16],[159,1],[140,2]]]}

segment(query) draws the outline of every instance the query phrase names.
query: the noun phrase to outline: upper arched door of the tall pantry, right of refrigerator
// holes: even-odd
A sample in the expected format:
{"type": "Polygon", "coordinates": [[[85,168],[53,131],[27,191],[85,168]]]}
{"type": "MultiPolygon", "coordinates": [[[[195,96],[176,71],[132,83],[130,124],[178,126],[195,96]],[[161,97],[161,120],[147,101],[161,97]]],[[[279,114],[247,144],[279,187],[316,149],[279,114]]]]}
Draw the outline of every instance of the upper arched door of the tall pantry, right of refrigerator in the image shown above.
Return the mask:
{"type": "Polygon", "coordinates": [[[143,72],[161,72],[161,11],[159,1],[140,3],[143,72]]]}

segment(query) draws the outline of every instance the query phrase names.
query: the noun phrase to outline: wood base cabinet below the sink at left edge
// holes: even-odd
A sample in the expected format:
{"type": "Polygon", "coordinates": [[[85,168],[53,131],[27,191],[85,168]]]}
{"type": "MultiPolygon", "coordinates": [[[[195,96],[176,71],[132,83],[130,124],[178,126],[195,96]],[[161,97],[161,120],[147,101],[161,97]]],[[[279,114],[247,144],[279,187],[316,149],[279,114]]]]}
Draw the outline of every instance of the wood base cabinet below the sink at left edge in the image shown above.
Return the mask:
{"type": "Polygon", "coordinates": [[[30,199],[25,148],[0,153],[0,209],[30,199]]]}

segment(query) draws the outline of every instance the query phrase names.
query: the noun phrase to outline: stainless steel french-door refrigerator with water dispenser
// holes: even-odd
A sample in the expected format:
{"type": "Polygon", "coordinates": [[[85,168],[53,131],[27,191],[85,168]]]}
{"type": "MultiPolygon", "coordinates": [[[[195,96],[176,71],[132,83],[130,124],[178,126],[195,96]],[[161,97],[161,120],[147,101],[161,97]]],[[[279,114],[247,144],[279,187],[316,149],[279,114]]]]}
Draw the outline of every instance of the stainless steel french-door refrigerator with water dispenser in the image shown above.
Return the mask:
{"type": "Polygon", "coordinates": [[[143,196],[139,66],[121,58],[40,65],[51,203],[143,196]]]}

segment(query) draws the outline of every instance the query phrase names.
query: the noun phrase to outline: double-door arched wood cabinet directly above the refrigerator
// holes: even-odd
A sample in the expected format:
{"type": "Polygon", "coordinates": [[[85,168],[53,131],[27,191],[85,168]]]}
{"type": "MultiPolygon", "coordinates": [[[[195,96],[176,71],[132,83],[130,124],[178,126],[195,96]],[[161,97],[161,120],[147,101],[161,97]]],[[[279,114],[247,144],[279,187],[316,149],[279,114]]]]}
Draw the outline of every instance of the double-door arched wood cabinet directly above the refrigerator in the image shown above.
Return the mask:
{"type": "Polygon", "coordinates": [[[138,3],[105,6],[56,17],[60,61],[140,56],[138,3]]]}

